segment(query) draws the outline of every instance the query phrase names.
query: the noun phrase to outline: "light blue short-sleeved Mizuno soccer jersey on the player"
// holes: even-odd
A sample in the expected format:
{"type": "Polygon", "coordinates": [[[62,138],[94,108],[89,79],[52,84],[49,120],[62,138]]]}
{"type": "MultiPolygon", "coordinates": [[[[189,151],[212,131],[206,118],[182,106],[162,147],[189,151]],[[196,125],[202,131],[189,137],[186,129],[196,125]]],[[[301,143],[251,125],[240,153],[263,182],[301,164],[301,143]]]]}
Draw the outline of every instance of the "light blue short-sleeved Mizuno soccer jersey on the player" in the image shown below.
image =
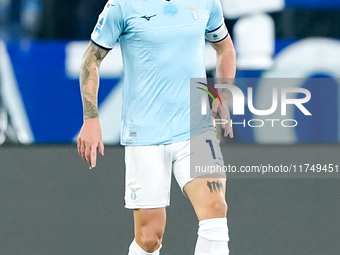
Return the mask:
{"type": "Polygon", "coordinates": [[[205,93],[190,88],[190,78],[206,77],[205,36],[217,42],[227,35],[219,0],[107,2],[91,39],[105,49],[120,42],[122,145],[174,143],[212,128],[211,114],[197,107],[190,125],[190,101],[205,93]]]}

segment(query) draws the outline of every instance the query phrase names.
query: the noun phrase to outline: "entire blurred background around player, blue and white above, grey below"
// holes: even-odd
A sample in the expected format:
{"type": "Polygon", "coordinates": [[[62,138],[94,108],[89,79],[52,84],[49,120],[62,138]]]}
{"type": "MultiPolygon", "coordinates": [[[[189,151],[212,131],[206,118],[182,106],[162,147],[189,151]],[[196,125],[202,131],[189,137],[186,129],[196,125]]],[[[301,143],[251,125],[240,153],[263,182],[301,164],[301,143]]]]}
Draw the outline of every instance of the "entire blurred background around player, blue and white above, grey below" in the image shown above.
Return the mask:
{"type": "MultiPolygon", "coordinates": [[[[133,223],[118,145],[119,45],[101,67],[106,157],[89,171],[74,144],[82,125],[80,62],[105,2],[0,0],[1,255],[127,254],[133,223]]],[[[222,141],[226,163],[339,164],[340,1],[221,3],[237,51],[236,81],[243,81],[236,85],[244,94],[253,87],[258,105],[264,80],[294,81],[311,91],[313,114],[306,121],[295,111],[301,124],[284,136],[235,126],[235,138],[222,141]]],[[[205,54],[214,77],[208,43],[205,54]]],[[[339,253],[339,179],[231,178],[227,193],[231,255],[339,253]]],[[[197,220],[176,185],[172,201],[162,254],[193,254],[197,220]]]]}

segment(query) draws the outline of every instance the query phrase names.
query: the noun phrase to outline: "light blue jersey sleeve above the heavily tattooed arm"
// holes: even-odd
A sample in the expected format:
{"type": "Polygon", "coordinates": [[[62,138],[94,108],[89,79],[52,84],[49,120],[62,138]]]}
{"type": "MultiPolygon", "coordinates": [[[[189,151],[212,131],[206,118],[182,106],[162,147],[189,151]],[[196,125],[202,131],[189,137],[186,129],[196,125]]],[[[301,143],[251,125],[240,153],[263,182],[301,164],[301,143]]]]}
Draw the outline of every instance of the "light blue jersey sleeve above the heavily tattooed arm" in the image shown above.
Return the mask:
{"type": "Polygon", "coordinates": [[[91,41],[104,49],[110,50],[117,42],[124,29],[123,11],[115,0],[109,0],[91,34],[91,41]]]}

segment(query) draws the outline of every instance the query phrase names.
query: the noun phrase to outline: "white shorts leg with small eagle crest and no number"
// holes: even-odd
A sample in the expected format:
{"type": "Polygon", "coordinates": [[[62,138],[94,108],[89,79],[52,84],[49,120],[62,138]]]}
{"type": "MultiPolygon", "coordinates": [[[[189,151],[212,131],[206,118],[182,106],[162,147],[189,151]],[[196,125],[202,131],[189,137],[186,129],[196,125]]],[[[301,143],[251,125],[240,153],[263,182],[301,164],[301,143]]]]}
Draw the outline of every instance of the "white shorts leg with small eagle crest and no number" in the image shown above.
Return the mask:
{"type": "Polygon", "coordinates": [[[169,206],[171,155],[164,145],[126,146],[125,164],[126,208],[169,206]]]}

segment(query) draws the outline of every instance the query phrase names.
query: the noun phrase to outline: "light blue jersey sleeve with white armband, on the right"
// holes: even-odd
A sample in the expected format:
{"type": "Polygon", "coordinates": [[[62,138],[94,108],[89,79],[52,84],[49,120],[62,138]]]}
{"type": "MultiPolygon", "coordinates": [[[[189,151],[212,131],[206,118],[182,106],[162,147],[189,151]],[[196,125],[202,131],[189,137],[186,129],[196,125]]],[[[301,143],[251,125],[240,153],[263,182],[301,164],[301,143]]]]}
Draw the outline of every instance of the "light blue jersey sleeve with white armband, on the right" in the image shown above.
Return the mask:
{"type": "Polygon", "coordinates": [[[206,26],[205,38],[209,42],[220,42],[228,36],[228,29],[224,24],[222,5],[220,0],[210,0],[210,16],[206,26]]]}

